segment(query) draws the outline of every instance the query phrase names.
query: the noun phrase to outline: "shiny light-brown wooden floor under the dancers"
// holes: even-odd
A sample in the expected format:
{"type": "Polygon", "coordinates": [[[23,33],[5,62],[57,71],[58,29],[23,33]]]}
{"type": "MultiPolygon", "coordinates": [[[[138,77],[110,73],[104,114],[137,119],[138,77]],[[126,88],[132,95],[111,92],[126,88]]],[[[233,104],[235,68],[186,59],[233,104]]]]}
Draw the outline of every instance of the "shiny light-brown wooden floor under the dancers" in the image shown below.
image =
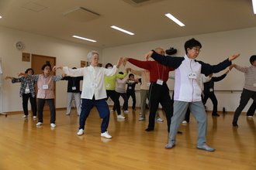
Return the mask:
{"type": "MultiPolygon", "coordinates": [[[[233,114],[208,117],[207,144],[214,152],[196,149],[197,124],[191,117],[182,124],[175,148],[164,149],[168,143],[166,121],[156,122],[155,130],[144,131],[147,121],[137,121],[140,109],[123,114],[117,120],[111,113],[109,134],[100,137],[98,112],[92,109],[85,134],[78,136],[79,117],[72,110],[57,110],[57,128],[50,128],[49,112],[44,113],[43,126],[22,112],[0,116],[0,169],[256,169],[256,128],[254,118],[244,114],[233,128],[233,114]]],[[[163,114],[160,111],[162,118],[163,114]]],[[[148,116],[148,115],[147,115],[148,116]]],[[[256,117],[255,117],[256,118],[256,117]]],[[[164,118],[165,120],[165,118],[164,118]]]]}

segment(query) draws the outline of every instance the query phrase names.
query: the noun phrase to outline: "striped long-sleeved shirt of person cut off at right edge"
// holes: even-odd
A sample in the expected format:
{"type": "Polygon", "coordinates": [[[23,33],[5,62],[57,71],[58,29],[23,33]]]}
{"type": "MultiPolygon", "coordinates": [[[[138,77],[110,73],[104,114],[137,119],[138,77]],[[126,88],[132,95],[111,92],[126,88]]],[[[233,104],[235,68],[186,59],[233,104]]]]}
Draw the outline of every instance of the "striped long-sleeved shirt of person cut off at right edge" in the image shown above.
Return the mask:
{"type": "Polygon", "coordinates": [[[256,66],[236,66],[235,68],[244,73],[244,89],[256,91],[256,66]]]}

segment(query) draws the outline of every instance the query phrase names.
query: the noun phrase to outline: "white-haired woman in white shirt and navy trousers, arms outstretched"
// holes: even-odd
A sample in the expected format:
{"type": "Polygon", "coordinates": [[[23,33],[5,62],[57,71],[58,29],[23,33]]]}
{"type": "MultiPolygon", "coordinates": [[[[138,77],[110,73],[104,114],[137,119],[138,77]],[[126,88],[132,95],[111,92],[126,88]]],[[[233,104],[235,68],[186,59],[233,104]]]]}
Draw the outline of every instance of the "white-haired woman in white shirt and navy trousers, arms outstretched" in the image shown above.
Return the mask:
{"type": "Polygon", "coordinates": [[[67,68],[67,66],[54,66],[54,71],[61,69],[67,76],[84,76],[78,135],[84,134],[85,121],[90,114],[90,110],[95,106],[99,111],[99,116],[102,118],[101,136],[104,138],[112,138],[107,131],[109,126],[109,106],[106,102],[107,96],[104,77],[116,74],[116,71],[122,63],[122,57],[112,69],[97,66],[99,64],[99,54],[96,51],[88,53],[87,59],[88,62],[90,62],[90,66],[76,70],[67,68]]]}

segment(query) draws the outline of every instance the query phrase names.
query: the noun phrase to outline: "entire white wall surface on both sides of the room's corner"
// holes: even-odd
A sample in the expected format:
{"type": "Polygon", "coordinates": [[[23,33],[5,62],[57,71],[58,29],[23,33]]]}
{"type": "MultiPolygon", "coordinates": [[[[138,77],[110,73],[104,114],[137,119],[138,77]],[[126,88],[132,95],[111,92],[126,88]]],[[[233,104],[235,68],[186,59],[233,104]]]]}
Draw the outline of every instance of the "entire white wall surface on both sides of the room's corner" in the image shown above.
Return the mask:
{"type": "MultiPolygon", "coordinates": [[[[43,56],[54,56],[57,58],[57,65],[80,67],[80,61],[86,60],[87,54],[91,50],[97,50],[100,55],[100,63],[105,66],[106,63],[116,64],[120,56],[132,57],[144,60],[144,55],[151,49],[160,46],[164,49],[175,47],[178,53],[175,56],[184,56],[184,42],[188,39],[195,38],[202,43],[202,52],[197,59],[206,63],[216,64],[227,59],[227,57],[240,53],[241,56],[234,61],[240,66],[250,66],[249,58],[255,54],[254,40],[256,39],[256,28],[239,29],[228,32],[216,32],[204,35],[185,36],[175,39],[162,39],[152,42],[143,42],[128,46],[116,46],[107,49],[97,49],[92,46],[82,46],[78,43],[67,42],[60,39],[53,39],[46,36],[40,36],[28,32],[22,32],[15,29],[7,29],[0,27],[0,57],[2,58],[3,76],[16,76],[16,73],[24,72],[31,66],[30,62],[22,62],[23,53],[33,53],[43,56]],[[26,49],[22,52],[15,48],[15,43],[22,41],[26,45],[26,49]]],[[[136,66],[127,64],[126,67],[139,70],[136,66]]],[[[124,67],[120,68],[124,71],[124,67]]],[[[216,73],[220,76],[225,71],[216,73]]],[[[57,75],[61,74],[57,71],[57,75]]],[[[170,75],[174,75],[171,72],[170,75]]],[[[136,76],[137,77],[137,76],[136,76]]],[[[67,82],[59,81],[57,84],[56,107],[66,107],[66,90],[67,82]]],[[[215,83],[216,90],[242,90],[244,85],[244,73],[233,70],[228,76],[215,83]]],[[[174,81],[168,80],[170,90],[174,87],[174,81]]],[[[19,97],[19,83],[12,84],[10,80],[3,80],[3,102],[4,112],[22,110],[22,99],[19,97]]],[[[137,85],[137,90],[140,86],[137,85]]],[[[240,92],[216,92],[219,100],[218,110],[226,107],[227,111],[234,111],[240,100],[240,92]]],[[[123,100],[121,101],[123,104],[123,100]]],[[[131,99],[129,102],[131,106],[131,99]]],[[[140,93],[137,93],[137,107],[140,105],[140,93]]],[[[211,110],[212,104],[210,100],[206,107],[211,110]]],[[[245,107],[244,111],[248,108],[245,107]]]]}

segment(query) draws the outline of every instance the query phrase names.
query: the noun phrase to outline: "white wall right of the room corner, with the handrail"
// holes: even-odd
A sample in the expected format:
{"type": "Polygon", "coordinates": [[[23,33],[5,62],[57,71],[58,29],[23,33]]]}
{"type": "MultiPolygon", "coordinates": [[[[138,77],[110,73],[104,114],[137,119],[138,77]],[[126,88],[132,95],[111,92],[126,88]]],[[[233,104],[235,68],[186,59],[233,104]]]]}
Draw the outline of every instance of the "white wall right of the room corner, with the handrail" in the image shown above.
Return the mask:
{"type": "MultiPolygon", "coordinates": [[[[176,53],[175,56],[184,56],[184,43],[186,40],[191,38],[195,38],[202,43],[202,52],[197,59],[213,65],[220,63],[233,54],[240,53],[239,58],[234,60],[233,63],[236,63],[240,66],[251,66],[249,58],[256,54],[256,28],[250,28],[195,36],[185,36],[175,39],[162,39],[158,41],[143,42],[128,46],[116,46],[107,48],[103,49],[103,63],[116,63],[116,60],[119,56],[144,60],[145,53],[157,47],[162,47],[164,49],[175,47],[175,49],[178,50],[178,53],[176,53]]],[[[140,68],[133,66],[130,63],[128,63],[126,67],[140,70],[140,68]]],[[[120,68],[120,70],[124,70],[124,68],[120,68]]],[[[213,76],[220,76],[225,72],[226,70],[223,70],[222,72],[216,73],[213,76]]],[[[170,73],[170,75],[174,74],[174,72],[170,73]]],[[[244,73],[234,69],[227,75],[224,80],[215,83],[215,90],[242,90],[243,86],[244,73]]],[[[173,80],[168,80],[168,87],[170,90],[173,90],[173,80]]],[[[140,86],[137,86],[137,89],[140,89],[140,86]]],[[[227,111],[234,111],[239,104],[240,92],[216,92],[216,97],[219,101],[218,110],[222,110],[223,107],[225,107],[227,111]]],[[[251,102],[252,100],[248,105],[250,105],[251,102]]],[[[123,104],[123,101],[121,104],[123,104]]],[[[129,105],[131,106],[131,99],[129,101],[129,105]]],[[[140,95],[137,95],[137,106],[140,106],[140,95]]],[[[247,111],[248,107],[249,106],[245,107],[244,111],[247,111]]],[[[208,110],[212,110],[213,104],[210,100],[207,101],[206,108],[208,110]]]]}

